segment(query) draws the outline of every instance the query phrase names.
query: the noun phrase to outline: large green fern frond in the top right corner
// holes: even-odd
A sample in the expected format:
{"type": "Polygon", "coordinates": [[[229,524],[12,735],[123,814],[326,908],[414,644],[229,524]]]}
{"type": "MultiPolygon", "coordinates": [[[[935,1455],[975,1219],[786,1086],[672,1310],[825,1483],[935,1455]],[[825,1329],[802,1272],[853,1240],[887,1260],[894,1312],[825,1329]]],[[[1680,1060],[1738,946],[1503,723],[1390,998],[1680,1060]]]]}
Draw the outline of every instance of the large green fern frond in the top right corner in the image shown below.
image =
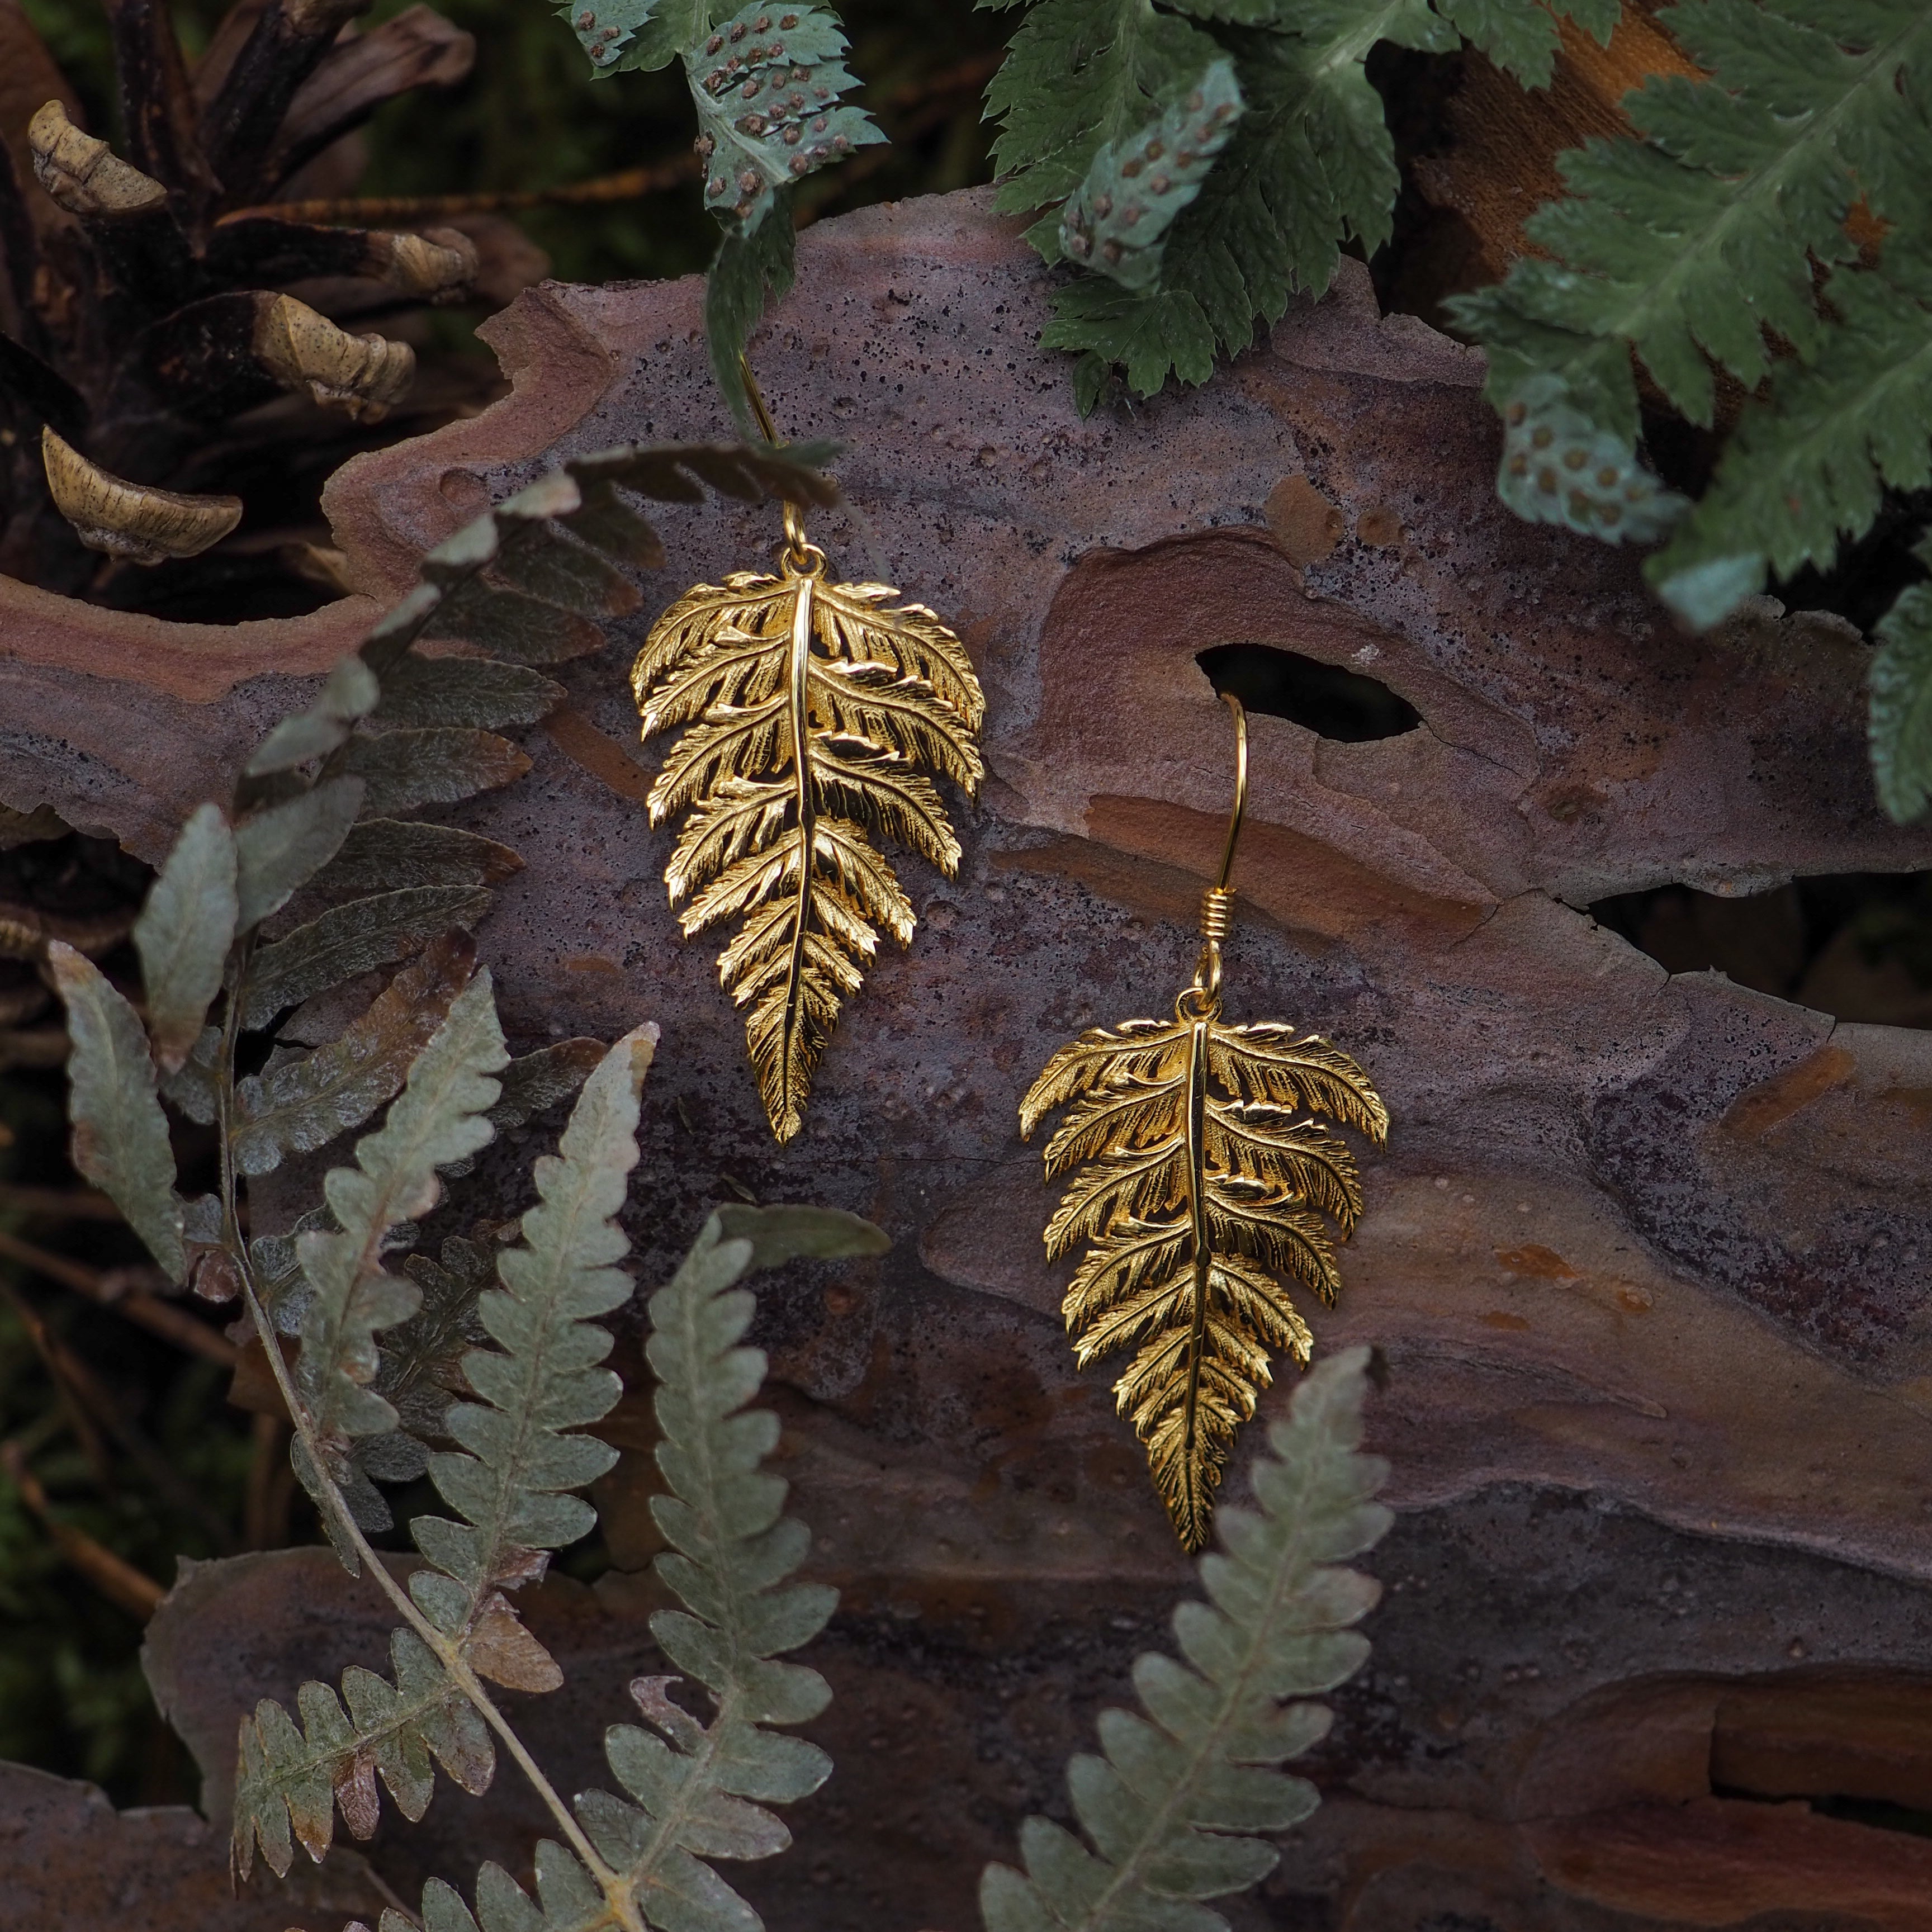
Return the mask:
{"type": "Polygon", "coordinates": [[[1928,473],[1932,15],[1917,0],[1681,0],[1663,23],[1710,77],[1658,75],[1625,97],[1636,137],[1561,156],[1569,193],[1524,230],[1538,255],[1449,307],[1488,350],[1511,423],[1503,500],[1609,541],[1677,522],[1648,574],[1708,626],[1768,570],[1828,566],[1870,527],[1882,483],[1928,473]],[[1884,230],[1864,267],[1847,228],[1861,203],[1884,230]],[[1633,352],[1694,423],[1712,421],[1714,369],[1754,390],[1795,355],[1689,514],[1636,464],[1633,352]],[[1592,504],[1522,444],[1549,440],[1551,406],[1578,471],[1625,469],[1621,495],[1592,504]],[[1605,518],[1646,491],[1634,529],[1605,518]]]}

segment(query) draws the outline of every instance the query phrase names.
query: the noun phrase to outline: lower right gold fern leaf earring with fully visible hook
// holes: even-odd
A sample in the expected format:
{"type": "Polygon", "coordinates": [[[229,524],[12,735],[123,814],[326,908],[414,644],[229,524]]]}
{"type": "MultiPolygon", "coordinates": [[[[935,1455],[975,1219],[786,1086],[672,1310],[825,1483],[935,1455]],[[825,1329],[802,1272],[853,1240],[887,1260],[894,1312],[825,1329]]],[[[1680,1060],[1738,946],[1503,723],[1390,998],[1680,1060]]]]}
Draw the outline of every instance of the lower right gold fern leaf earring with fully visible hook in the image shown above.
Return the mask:
{"type": "Polygon", "coordinates": [[[1277,1277],[1323,1302],[1341,1289],[1333,1223],[1349,1236],[1362,1182],[1347,1144],[1316,1115],[1387,1140],[1368,1074],[1314,1034],[1221,1022],[1229,875],[1248,806],[1248,715],[1235,713],[1235,813],[1221,877],[1202,898],[1194,983],[1173,1020],[1090,1028],[1061,1047],[1020,1101],[1020,1136],[1068,1107],[1047,1142],[1047,1177],[1080,1169],[1047,1223],[1055,1260],[1080,1242],[1063,1312],[1082,1368],[1134,1358],[1113,1385],[1148,1445],[1153,1486],[1184,1549],[1208,1542],[1229,1445],[1269,1383],[1269,1350],[1302,1366],[1308,1323],[1277,1277]]]}

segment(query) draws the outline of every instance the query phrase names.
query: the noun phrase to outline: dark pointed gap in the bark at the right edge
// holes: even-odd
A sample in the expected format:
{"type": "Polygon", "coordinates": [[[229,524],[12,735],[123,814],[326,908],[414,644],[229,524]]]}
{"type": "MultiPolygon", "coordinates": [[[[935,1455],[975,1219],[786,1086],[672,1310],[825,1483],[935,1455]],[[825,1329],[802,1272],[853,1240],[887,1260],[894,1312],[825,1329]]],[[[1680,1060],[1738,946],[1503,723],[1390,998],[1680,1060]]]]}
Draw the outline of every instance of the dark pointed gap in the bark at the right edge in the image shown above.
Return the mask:
{"type": "Polygon", "coordinates": [[[1828,873],[1723,896],[1689,885],[1600,898],[1598,925],[1665,972],[1721,972],[1837,1020],[1932,1026],[1932,873],[1828,873]]]}

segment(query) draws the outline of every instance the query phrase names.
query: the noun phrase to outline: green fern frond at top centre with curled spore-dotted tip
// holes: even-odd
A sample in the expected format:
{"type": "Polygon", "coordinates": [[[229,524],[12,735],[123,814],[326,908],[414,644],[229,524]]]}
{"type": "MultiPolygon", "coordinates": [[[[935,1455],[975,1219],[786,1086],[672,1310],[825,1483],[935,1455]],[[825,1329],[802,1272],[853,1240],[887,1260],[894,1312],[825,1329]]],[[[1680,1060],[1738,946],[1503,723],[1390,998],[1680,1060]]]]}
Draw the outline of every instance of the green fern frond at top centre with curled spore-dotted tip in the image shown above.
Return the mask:
{"type": "Polygon", "coordinates": [[[1449,52],[1466,35],[1524,87],[1544,87],[1551,14],[1607,41],[1619,8],[1177,0],[1175,12],[1204,25],[1151,0],[1037,0],[987,89],[987,114],[1003,120],[999,205],[1053,205],[1028,240],[1049,263],[1095,270],[1055,290],[1041,334],[1082,357],[1082,413],[1111,367],[1142,396],[1169,377],[1206,383],[1217,350],[1244,350],[1293,294],[1329,286],[1343,242],[1374,253],[1387,240],[1401,176],[1364,66],[1379,43],[1449,52]],[[1219,118],[1190,120],[1190,100],[1219,118]],[[1150,147],[1184,156],[1151,199],[1138,193],[1151,176],[1130,166],[1150,147]],[[1132,228],[1115,226],[1128,207],[1132,228]]]}

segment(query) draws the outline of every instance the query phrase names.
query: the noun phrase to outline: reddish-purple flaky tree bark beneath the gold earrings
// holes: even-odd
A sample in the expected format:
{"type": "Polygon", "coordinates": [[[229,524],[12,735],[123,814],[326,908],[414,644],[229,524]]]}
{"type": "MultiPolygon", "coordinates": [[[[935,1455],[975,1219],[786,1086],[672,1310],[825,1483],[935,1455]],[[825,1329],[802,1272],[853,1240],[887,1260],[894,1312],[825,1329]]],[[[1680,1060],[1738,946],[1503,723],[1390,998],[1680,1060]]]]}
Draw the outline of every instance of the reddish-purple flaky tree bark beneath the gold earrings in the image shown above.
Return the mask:
{"type": "MultiPolygon", "coordinates": [[[[1196,657],[1258,643],[1368,674],[1422,723],[1339,742],[1252,719],[1229,1016],[1327,1034],[1389,1101],[1341,1304],[1306,1312],[1320,1349],[1381,1350],[1399,1524],[1368,1563],[1374,1660],[1316,1758],[1327,1803],[1233,1915],[1932,1922],[1932,1851],[1880,1828],[1932,1808],[1932,1036],[1673,978],[1586,910],[1932,866],[1932,831],[1872,802],[1866,645],[1772,603],[1679,636],[1634,556],[1515,522],[1480,357],[1379,317],[1354,265],[1208,388],[1088,421],[1037,348],[1047,298],[983,195],[873,209],[802,238],[753,354],[781,431],[846,446],[848,508],[813,526],[835,568],[939,611],[989,699],[960,877],[896,860],[920,931],[848,1005],[792,1146],[715,945],[680,943],[665,904],[670,835],[641,808],[661,748],[638,748],[624,678],[643,620],[562,668],[531,775],[456,813],[527,862],[479,933],[514,1041],[665,1028],[632,1190],[645,1279],[719,1198],[852,1208],[895,1242],[761,1291],[779,1466],[844,1596],[815,1656],[838,1772],[746,1891],[788,1932],[964,1932],[980,1864],[1026,1808],[1065,1816],[1065,1752],[1188,1588],[1109,1378],[1066,1350],[1053,1194],[1014,1109],[1055,1045],[1186,981],[1231,792],[1196,657]]],[[[696,282],[547,284],[487,325],[512,394],[330,483],[359,587],[400,595],[423,549],[560,456],[717,437],[699,303],[696,282]]],[[[647,616],[779,535],[736,506],[659,522],[647,616]]],[[[253,626],[257,655],[193,676],[160,641],[114,663],[0,643],[0,800],[155,856],[361,620],[253,626]]],[[[485,1159],[497,1213],[539,1140],[485,1159]]],[[[265,1225],[298,1180],[257,1190],[265,1225]]],[[[634,1350],[632,1327],[626,1376],[634,1350]]],[[[568,1789],[599,1777],[651,1656],[641,1395],[612,1439],[616,1567],[545,1586],[580,1667],[531,1718],[568,1789]]],[[[184,1588],[151,1660],[218,1814],[240,1712],[379,1663],[386,1625],[323,1553],[184,1588]],[[238,1633],[298,1605],[313,1633],[317,1604],[330,1644],[236,1662],[238,1633]]],[[[539,1824],[508,1777],[384,1824],[373,1862],[404,1889],[516,1864],[539,1824]]]]}

